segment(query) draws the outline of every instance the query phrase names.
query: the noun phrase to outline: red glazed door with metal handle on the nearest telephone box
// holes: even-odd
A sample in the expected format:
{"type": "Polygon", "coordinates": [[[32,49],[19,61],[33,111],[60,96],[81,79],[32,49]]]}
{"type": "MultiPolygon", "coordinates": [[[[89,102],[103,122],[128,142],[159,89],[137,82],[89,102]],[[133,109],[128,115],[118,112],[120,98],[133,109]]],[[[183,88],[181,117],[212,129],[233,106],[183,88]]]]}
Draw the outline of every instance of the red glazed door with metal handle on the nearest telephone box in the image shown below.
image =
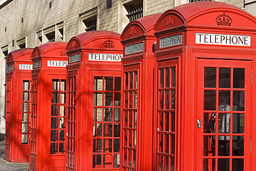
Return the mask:
{"type": "Polygon", "coordinates": [[[196,170],[251,170],[251,70],[251,61],[199,59],[196,170]]]}

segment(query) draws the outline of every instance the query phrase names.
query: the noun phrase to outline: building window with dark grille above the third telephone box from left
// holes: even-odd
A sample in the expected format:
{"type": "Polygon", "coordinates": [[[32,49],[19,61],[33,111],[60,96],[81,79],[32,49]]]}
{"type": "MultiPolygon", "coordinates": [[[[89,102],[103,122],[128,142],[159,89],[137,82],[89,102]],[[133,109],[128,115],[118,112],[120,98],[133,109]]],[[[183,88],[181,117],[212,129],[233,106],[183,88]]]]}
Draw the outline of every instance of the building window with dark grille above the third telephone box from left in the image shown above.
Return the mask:
{"type": "Polygon", "coordinates": [[[97,30],[97,13],[98,7],[95,7],[80,14],[80,33],[97,30]]]}

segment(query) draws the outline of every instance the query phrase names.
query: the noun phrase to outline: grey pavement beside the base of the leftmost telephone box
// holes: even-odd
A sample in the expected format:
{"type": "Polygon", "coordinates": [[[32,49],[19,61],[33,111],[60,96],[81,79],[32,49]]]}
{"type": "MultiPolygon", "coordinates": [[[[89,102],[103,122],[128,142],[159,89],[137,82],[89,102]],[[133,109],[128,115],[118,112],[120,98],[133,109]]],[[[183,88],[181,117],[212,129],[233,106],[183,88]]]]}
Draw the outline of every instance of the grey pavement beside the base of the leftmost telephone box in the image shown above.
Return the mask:
{"type": "Polygon", "coordinates": [[[5,141],[0,141],[0,171],[28,171],[28,163],[9,163],[3,160],[4,143],[5,141]]]}

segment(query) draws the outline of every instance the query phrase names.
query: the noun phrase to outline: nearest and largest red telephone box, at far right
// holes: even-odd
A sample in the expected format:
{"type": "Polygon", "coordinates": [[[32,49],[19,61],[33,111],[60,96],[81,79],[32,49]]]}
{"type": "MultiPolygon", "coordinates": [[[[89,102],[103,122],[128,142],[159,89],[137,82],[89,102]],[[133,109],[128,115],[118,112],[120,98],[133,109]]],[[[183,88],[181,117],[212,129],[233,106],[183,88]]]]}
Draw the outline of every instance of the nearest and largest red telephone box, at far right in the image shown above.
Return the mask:
{"type": "Polygon", "coordinates": [[[255,168],[255,26],[255,17],[217,1],[158,19],[156,170],[255,168]]]}

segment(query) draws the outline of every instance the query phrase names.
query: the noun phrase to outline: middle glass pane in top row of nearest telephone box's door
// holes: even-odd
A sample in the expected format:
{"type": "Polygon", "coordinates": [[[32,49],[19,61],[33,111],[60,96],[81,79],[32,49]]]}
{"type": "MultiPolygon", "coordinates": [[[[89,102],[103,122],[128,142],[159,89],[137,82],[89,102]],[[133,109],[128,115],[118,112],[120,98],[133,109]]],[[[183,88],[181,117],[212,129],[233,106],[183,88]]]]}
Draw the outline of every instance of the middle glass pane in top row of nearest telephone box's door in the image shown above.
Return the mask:
{"type": "Polygon", "coordinates": [[[219,88],[230,88],[230,68],[219,68],[219,88]]]}

